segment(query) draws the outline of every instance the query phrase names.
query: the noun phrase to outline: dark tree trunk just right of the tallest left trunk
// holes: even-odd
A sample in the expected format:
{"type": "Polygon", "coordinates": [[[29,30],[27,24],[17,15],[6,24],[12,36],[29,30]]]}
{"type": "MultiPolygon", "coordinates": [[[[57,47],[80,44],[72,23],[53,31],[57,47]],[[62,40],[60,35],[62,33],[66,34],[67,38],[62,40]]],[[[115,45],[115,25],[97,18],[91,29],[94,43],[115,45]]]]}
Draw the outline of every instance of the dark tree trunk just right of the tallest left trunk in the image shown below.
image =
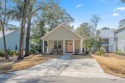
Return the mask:
{"type": "Polygon", "coordinates": [[[30,30],[31,30],[31,17],[28,18],[25,56],[29,56],[30,30]]]}

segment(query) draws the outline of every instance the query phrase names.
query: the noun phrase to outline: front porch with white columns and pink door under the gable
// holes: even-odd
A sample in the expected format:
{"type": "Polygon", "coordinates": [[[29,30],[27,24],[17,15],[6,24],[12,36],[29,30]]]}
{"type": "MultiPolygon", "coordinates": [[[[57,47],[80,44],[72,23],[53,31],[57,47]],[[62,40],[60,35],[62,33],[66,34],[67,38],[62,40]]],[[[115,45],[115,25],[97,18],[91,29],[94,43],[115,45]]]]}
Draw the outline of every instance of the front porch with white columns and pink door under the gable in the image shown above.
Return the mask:
{"type": "Polygon", "coordinates": [[[82,54],[82,40],[43,40],[43,53],[45,54],[82,54]]]}

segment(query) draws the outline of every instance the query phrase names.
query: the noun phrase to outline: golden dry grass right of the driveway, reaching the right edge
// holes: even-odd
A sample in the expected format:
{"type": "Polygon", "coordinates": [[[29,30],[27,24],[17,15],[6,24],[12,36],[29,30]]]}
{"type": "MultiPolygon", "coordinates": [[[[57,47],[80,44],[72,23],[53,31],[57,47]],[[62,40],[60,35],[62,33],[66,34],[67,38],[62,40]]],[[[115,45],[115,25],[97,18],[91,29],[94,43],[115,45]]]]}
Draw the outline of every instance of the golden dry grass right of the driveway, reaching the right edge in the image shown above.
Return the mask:
{"type": "Polygon", "coordinates": [[[109,53],[108,57],[97,55],[93,55],[93,57],[106,73],[125,78],[125,56],[109,53]]]}

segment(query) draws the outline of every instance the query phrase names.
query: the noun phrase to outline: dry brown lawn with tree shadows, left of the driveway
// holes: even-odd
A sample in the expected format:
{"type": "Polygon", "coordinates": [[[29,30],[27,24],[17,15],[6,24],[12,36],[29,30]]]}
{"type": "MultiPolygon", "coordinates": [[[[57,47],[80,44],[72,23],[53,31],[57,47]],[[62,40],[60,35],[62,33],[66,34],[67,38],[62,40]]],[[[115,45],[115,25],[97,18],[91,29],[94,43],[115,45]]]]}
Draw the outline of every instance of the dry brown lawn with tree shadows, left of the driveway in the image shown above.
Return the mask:
{"type": "Polygon", "coordinates": [[[30,55],[26,57],[24,60],[18,62],[14,62],[14,60],[12,60],[11,62],[2,61],[0,62],[0,73],[24,70],[35,65],[38,65],[46,60],[58,57],[60,57],[60,55],[30,55]]]}

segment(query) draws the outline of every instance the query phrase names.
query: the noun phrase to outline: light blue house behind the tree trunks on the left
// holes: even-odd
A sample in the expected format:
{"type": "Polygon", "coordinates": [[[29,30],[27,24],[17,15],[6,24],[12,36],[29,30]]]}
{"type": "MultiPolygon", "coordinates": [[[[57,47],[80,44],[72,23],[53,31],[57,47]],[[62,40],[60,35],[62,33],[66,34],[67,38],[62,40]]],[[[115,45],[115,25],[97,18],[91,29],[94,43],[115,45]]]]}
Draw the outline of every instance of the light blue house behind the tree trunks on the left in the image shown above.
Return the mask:
{"type": "MultiPolygon", "coordinates": [[[[9,50],[19,50],[19,43],[20,43],[20,30],[7,30],[5,31],[6,37],[6,46],[9,50]]],[[[25,42],[24,42],[25,45],[25,42]]],[[[0,31],[0,50],[4,50],[4,43],[3,43],[3,33],[0,31]]]]}

